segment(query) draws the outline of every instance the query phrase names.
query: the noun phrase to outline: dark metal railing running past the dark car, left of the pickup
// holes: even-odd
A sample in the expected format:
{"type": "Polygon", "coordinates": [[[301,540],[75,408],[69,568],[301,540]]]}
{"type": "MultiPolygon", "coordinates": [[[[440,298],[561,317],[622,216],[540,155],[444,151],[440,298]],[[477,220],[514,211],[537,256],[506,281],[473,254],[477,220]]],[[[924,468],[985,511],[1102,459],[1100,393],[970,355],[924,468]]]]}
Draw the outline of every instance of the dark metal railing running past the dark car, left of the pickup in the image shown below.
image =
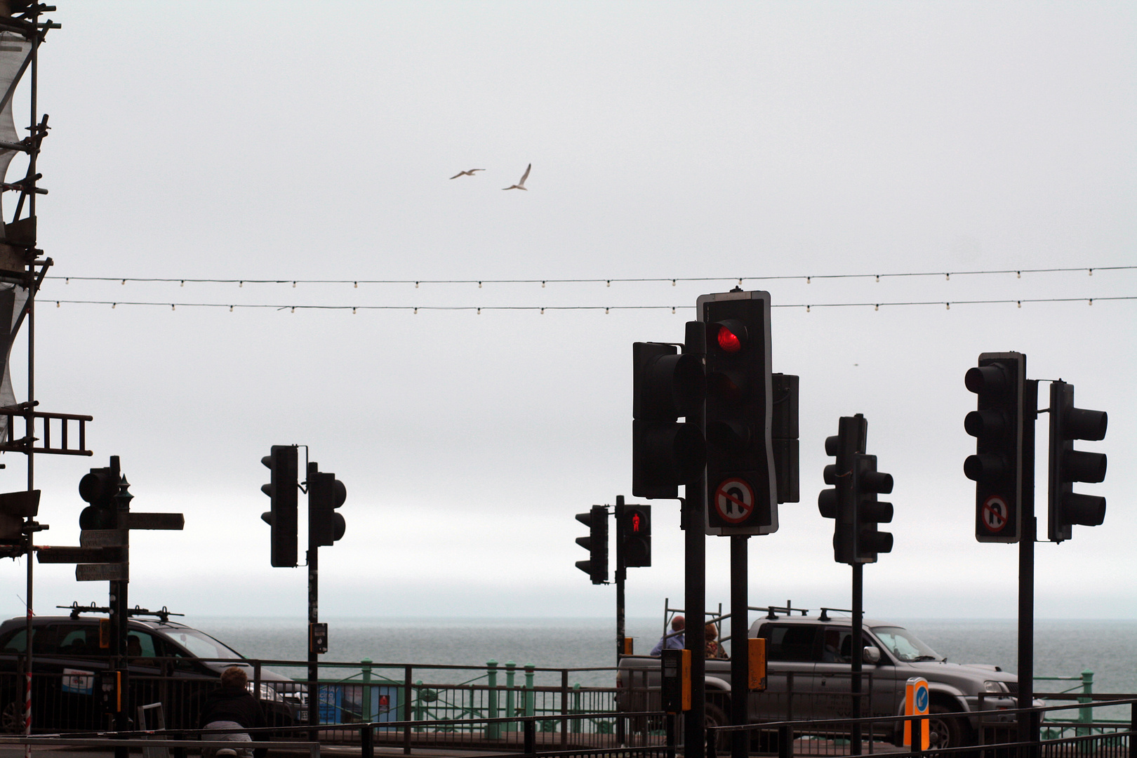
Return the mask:
{"type": "MultiPolygon", "coordinates": [[[[562,669],[405,664],[326,664],[319,670],[315,697],[307,682],[289,680],[272,669],[301,669],[307,663],[287,660],[217,660],[221,665],[240,663],[252,668],[250,690],[260,700],[268,723],[277,727],[302,725],[308,708],[317,709],[321,724],[395,722],[456,722],[501,718],[492,730],[514,733],[521,720],[536,720],[542,733],[564,728],[558,722],[567,715],[615,710],[614,688],[570,684],[573,674],[615,678],[614,669],[562,669]],[[272,667],[272,669],[269,668],[272,667]],[[342,676],[337,674],[342,673],[342,676]],[[331,676],[329,676],[331,675],[331,676]],[[425,680],[425,681],[424,681],[425,680]]],[[[67,666],[44,661],[32,676],[32,726],[43,732],[90,732],[107,730],[109,716],[100,701],[99,674],[107,660],[68,660],[67,666]],[[51,670],[51,669],[55,670],[51,670]]],[[[134,714],[138,706],[161,703],[165,723],[171,728],[188,730],[200,725],[205,697],[217,686],[217,678],[186,666],[184,659],[152,659],[147,666],[131,666],[130,690],[124,706],[134,714]]],[[[23,732],[24,680],[18,672],[0,672],[0,708],[3,732],[23,732]]],[[[141,726],[141,725],[139,725],[141,726]]],[[[615,733],[612,718],[572,719],[576,733],[615,733]]],[[[398,731],[379,726],[377,733],[398,731]]],[[[455,731],[460,731],[455,726],[455,731]]],[[[277,730],[283,733],[282,730],[277,730]]]]}

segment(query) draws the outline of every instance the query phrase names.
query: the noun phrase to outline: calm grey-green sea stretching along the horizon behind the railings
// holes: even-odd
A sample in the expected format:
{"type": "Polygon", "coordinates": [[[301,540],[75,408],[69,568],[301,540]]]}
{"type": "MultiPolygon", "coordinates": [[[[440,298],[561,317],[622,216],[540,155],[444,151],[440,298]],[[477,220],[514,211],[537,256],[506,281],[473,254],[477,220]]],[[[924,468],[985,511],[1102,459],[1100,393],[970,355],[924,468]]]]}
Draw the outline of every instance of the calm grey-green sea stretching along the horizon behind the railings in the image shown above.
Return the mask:
{"type": "MultiPolygon", "coordinates": [[[[282,618],[186,618],[250,658],[306,660],[306,624],[282,618]]],[[[612,618],[326,619],[329,652],[321,661],[484,666],[489,660],[540,668],[615,665],[612,618]]],[[[891,620],[891,619],[890,619],[891,620]]],[[[1018,626],[1007,619],[895,619],[955,663],[1018,668],[1018,626]]],[[[662,618],[632,618],[636,651],[659,638],[662,618]]],[[[729,650],[729,642],[727,644],[729,650]]],[[[1095,692],[1137,692],[1137,620],[1036,620],[1035,675],[1080,677],[1094,673],[1095,692]]],[[[401,678],[401,673],[388,675],[401,678]]],[[[422,673],[425,677],[426,673],[422,673]]],[[[415,674],[420,677],[420,673],[415,674]]],[[[608,686],[612,672],[574,672],[570,683],[608,686]]],[[[520,680],[518,680],[520,683],[520,680]]],[[[1062,691],[1080,682],[1039,681],[1037,691],[1062,691]]]]}

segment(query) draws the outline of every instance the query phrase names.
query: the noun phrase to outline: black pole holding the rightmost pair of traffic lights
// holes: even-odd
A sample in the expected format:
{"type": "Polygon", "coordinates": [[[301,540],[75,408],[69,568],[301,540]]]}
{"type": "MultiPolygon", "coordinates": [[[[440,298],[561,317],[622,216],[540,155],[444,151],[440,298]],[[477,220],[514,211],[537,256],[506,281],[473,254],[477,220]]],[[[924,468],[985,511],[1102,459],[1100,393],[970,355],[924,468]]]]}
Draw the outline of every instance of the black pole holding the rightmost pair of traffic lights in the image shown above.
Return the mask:
{"type": "MultiPolygon", "coordinates": [[[[1035,422],[1038,418],[1038,380],[1022,388],[1022,534],[1019,535],[1019,708],[1035,700],[1035,422]]],[[[1054,413],[1051,409],[1051,413],[1054,413]]],[[[1035,743],[1037,728],[1030,714],[1019,714],[1019,740],[1035,743]]]]}

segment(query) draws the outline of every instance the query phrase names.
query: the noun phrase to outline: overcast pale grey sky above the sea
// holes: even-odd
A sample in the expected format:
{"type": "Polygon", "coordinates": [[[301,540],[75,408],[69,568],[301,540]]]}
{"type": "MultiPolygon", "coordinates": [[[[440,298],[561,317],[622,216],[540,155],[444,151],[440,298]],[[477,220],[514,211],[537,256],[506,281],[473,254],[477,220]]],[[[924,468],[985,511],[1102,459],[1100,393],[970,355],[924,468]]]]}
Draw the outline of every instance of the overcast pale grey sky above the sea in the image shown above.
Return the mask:
{"type": "MultiPolygon", "coordinates": [[[[77,543],[77,482],[110,455],[134,509],[185,514],[133,535],[132,603],[302,623],[305,572],[269,567],[259,519],[260,457],[300,443],[348,491],[323,616],[611,614],[573,516],[631,494],[631,343],[681,340],[742,277],[771,292],[774,370],[802,377],[802,502],[750,541],[754,605],[849,601],[816,494],[824,438],[863,413],[896,480],[866,611],[1012,617],[1018,550],[973,535],[963,375],[1019,350],[1110,414],[1082,444],[1110,457],[1081,488],[1105,525],[1038,545],[1037,613],[1137,618],[1137,301],[1104,300],[1137,272],[1103,270],[1137,264],[1132,3],[58,5],[51,274],[287,280],[43,288],[36,395],[94,416],[96,455],[38,459],[42,542],[77,543]],[[1039,268],[1081,270],[958,274],[1039,268]],[[669,281],[555,281],[629,278],[669,281]],[[428,280],[456,282],[405,283],[428,280]],[[1048,298],[1079,300],[1028,302],[1048,298]],[[933,305],[824,307],[905,302],[933,305]]],[[[638,616],[683,593],[678,503],[654,516],[638,616]]],[[[725,602],[728,541],[707,543],[725,602]]],[[[23,564],[0,570],[19,615],[23,564]]],[[[106,601],[73,572],[35,567],[39,613],[106,601]]]]}

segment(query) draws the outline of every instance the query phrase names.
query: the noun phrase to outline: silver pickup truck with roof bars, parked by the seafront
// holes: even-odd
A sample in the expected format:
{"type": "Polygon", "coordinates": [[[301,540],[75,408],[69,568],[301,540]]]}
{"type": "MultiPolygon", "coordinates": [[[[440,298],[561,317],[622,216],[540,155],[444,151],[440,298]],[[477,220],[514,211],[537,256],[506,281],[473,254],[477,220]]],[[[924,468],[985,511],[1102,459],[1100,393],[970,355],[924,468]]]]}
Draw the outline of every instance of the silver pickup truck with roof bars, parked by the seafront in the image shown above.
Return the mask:
{"type": "MultiPolygon", "coordinates": [[[[1018,682],[998,666],[949,664],[912,632],[865,619],[862,625],[862,691],[864,716],[904,714],[907,680],[928,680],[931,745],[955,748],[976,742],[978,709],[1014,708],[1018,682]]],[[[849,618],[778,616],[771,613],[754,622],[749,636],[766,641],[766,689],[752,692],[752,723],[845,718],[852,716],[853,627],[849,618]]],[[[616,674],[617,708],[650,710],[659,707],[659,659],[624,656],[616,674]]],[[[728,723],[730,713],[730,661],[706,661],[706,719],[708,725],[728,723]]],[[[901,742],[898,723],[882,724],[887,740],[901,742]]]]}

